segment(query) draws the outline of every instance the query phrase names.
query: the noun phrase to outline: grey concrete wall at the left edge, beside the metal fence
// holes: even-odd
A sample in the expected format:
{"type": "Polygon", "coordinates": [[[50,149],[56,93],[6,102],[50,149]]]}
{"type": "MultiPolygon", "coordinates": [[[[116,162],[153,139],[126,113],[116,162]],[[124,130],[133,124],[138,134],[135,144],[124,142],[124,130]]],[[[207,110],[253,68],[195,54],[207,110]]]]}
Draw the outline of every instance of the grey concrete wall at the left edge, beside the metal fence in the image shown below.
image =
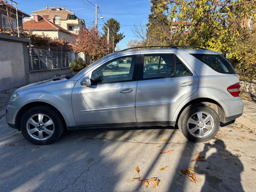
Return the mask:
{"type": "Polygon", "coordinates": [[[28,83],[24,62],[28,61],[30,40],[0,34],[0,91],[28,83]],[[27,80],[27,81],[26,81],[27,80]]]}

